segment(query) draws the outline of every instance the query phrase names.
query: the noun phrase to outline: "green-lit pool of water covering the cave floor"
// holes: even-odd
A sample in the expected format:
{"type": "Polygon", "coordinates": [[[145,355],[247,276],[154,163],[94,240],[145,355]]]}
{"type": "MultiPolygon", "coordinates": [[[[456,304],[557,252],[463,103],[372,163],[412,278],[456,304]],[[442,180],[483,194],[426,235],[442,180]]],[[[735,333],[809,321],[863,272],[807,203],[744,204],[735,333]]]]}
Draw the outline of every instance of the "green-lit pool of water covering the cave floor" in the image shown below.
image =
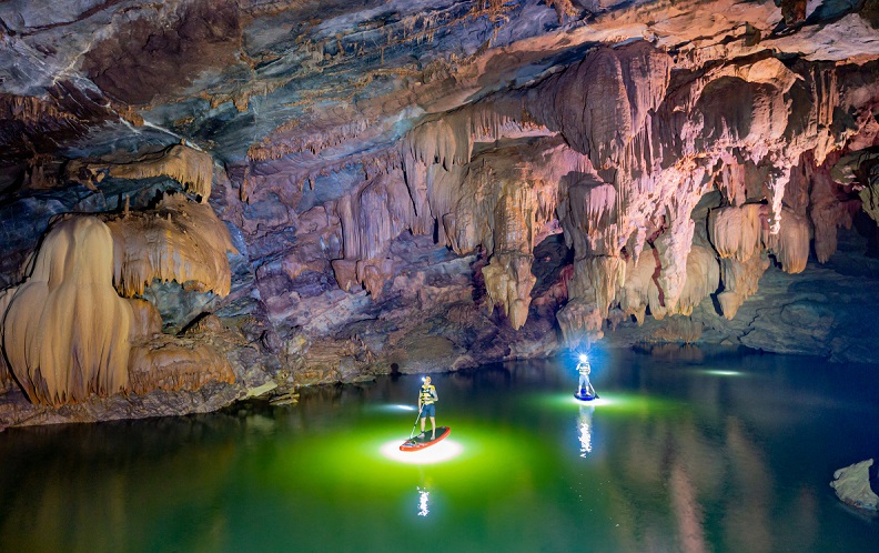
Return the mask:
{"type": "Polygon", "coordinates": [[[0,550],[879,547],[879,522],[828,485],[879,460],[876,368],[677,346],[593,366],[590,406],[565,360],[434,375],[452,434],[417,459],[395,451],[416,376],[294,406],[11,429],[0,550]]]}

